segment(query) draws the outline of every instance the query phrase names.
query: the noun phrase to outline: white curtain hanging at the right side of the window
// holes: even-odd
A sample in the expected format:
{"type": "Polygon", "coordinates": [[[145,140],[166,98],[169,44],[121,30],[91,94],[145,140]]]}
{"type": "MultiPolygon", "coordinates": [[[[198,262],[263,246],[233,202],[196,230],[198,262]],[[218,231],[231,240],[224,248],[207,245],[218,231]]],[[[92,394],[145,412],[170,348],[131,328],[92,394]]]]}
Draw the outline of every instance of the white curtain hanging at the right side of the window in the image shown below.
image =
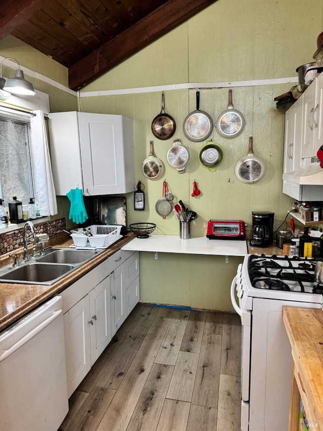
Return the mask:
{"type": "Polygon", "coordinates": [[[47,134],[43,111],[31,111],[31,147],[34,159],[37,198],[41,216],[58,213],[55,186],[52,179],[47,134]]]}

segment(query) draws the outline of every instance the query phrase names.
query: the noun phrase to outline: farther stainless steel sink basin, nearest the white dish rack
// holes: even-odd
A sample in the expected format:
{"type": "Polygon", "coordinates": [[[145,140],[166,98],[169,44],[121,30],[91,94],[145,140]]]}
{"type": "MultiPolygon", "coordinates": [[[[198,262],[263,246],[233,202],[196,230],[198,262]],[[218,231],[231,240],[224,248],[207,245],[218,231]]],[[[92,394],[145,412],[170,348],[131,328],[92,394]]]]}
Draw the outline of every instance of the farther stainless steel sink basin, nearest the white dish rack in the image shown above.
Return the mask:
{"type": "Polygon", "coordinates": [[[46,254],[37,259],[37,262],[47,263],[67,263],[76,264],[84,263],[98,254],[95,250],[73,250],[73,249],[55,249],[50,248],[45,251],[46,254]]]}

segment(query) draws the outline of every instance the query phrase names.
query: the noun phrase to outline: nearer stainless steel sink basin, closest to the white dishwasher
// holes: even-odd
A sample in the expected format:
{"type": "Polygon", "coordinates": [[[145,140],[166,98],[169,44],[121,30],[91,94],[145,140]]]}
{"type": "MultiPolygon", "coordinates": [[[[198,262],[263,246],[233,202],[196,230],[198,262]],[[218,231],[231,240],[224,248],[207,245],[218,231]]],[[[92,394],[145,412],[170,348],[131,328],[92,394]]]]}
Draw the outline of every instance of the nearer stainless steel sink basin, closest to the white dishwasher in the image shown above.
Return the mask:
{"type": "Polygon", "coordinates": [[[15,283],[46,283],[48,281],[52,283],[72,269],[74,269],[72,265],[26,263],[6,272],[0,280],[15,283]]]}

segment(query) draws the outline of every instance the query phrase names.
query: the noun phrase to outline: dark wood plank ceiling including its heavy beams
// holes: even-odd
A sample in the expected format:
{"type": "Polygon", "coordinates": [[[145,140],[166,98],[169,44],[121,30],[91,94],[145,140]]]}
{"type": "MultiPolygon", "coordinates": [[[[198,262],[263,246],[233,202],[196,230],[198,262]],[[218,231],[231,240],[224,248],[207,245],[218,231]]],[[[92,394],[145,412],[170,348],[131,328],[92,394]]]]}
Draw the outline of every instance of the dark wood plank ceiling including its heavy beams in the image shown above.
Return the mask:
{"type": "Polygon", "coordinates": [[[2,0],[12,34],[69,69],[77,90],[217,0],[2,0]]]}

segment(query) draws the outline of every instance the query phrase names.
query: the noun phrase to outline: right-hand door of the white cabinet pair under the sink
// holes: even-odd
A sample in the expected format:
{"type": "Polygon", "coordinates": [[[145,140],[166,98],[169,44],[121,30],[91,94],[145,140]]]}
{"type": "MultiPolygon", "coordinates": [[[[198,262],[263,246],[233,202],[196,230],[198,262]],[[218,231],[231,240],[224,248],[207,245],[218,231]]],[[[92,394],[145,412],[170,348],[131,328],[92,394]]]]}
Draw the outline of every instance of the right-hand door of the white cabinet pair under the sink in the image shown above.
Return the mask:
{"type": "Polygon", "coordinates": [[[91,365],[111,341],[110,276],[89,293],[91,365]]]}

